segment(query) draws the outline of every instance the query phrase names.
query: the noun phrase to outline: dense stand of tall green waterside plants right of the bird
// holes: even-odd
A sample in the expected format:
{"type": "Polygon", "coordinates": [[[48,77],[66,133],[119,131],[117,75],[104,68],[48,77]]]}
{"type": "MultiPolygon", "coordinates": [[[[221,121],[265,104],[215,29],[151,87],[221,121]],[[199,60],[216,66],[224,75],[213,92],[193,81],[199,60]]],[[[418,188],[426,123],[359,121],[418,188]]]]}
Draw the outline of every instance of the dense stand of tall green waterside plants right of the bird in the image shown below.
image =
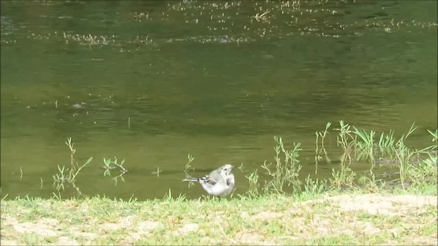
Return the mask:
{"type": "MultiPolygon", "coordinates": [[[[315,150],[315,174],[318,169],[319,154],[324,152],[326,160],[330,162],[328,154],[324,148],[324,139],[329,134],[331,123],[326,124],[324,131],[316,132],[316,150],[315,150]],[[321,148],[318,148],[319,139],[321,139],[321,148]]],[[[415,131],[416,127],[411,126],[408,133],[402,135],[396,141],[394,133],[389,131],[389,134],[381,133],[378,141],[374,138],[376,132],[365,131],[355,126],[350,126],[344,121],[339,121],[339,128],[333,130],[338,132],[337,146],[342,148],[342,154],[339,157],[339,168],[332,168],[331,178],[328,180],[312,181],[308,175],[305,179],[304,186],[300,181],[299,172],[301,165],[298,165],[298,156],[300,144],[294,143],[293,150],[285,150],[281,138],[275,137],[277,143],[274,150],[276,151],[275,165],[272,163],[266,164],[266,161],[261,165],[267,171],[264,184],[260,184],[260,176],[255,172],[246,175],[249,189],[246,195],[255,197],[260,195],[259,187],[262,187],[263,193],[321,193],[329,189],[364,189],[368,192],[376,192],[387,187],[387,182],[383,179],[376,178],[374,174],[375,163],[377,159],[382,159],[383,156],[394,156],[391,165],[398,167],[398,178],[391,182],[400,182],[402,189],[407,189],[408,186],[419,186],[422,184],[437,184],[437,145],[428,146],[422,150],[409,148],[405,141],[415,131]],[[283,160],[279,154],[284,155],[283,160]],[[359,176],[352,171],[351,166],[355,165],[356,161],[368,161],[371,167],[368,175],[359,176]],[[274,168],[272,168],[274,166],[274,168]],[[272,170],[271,170],[272,169],[272,170]],[[291,186],[292,189],[286,189],[291,186]],[[409,184],[409,185],[407,185],[409,184]]],[[[437,141],[437,132],[428,131],[433,136],[433,141],[437,141]]],[[[381,164],[383,165],[383,164],[381,164]]]]}

